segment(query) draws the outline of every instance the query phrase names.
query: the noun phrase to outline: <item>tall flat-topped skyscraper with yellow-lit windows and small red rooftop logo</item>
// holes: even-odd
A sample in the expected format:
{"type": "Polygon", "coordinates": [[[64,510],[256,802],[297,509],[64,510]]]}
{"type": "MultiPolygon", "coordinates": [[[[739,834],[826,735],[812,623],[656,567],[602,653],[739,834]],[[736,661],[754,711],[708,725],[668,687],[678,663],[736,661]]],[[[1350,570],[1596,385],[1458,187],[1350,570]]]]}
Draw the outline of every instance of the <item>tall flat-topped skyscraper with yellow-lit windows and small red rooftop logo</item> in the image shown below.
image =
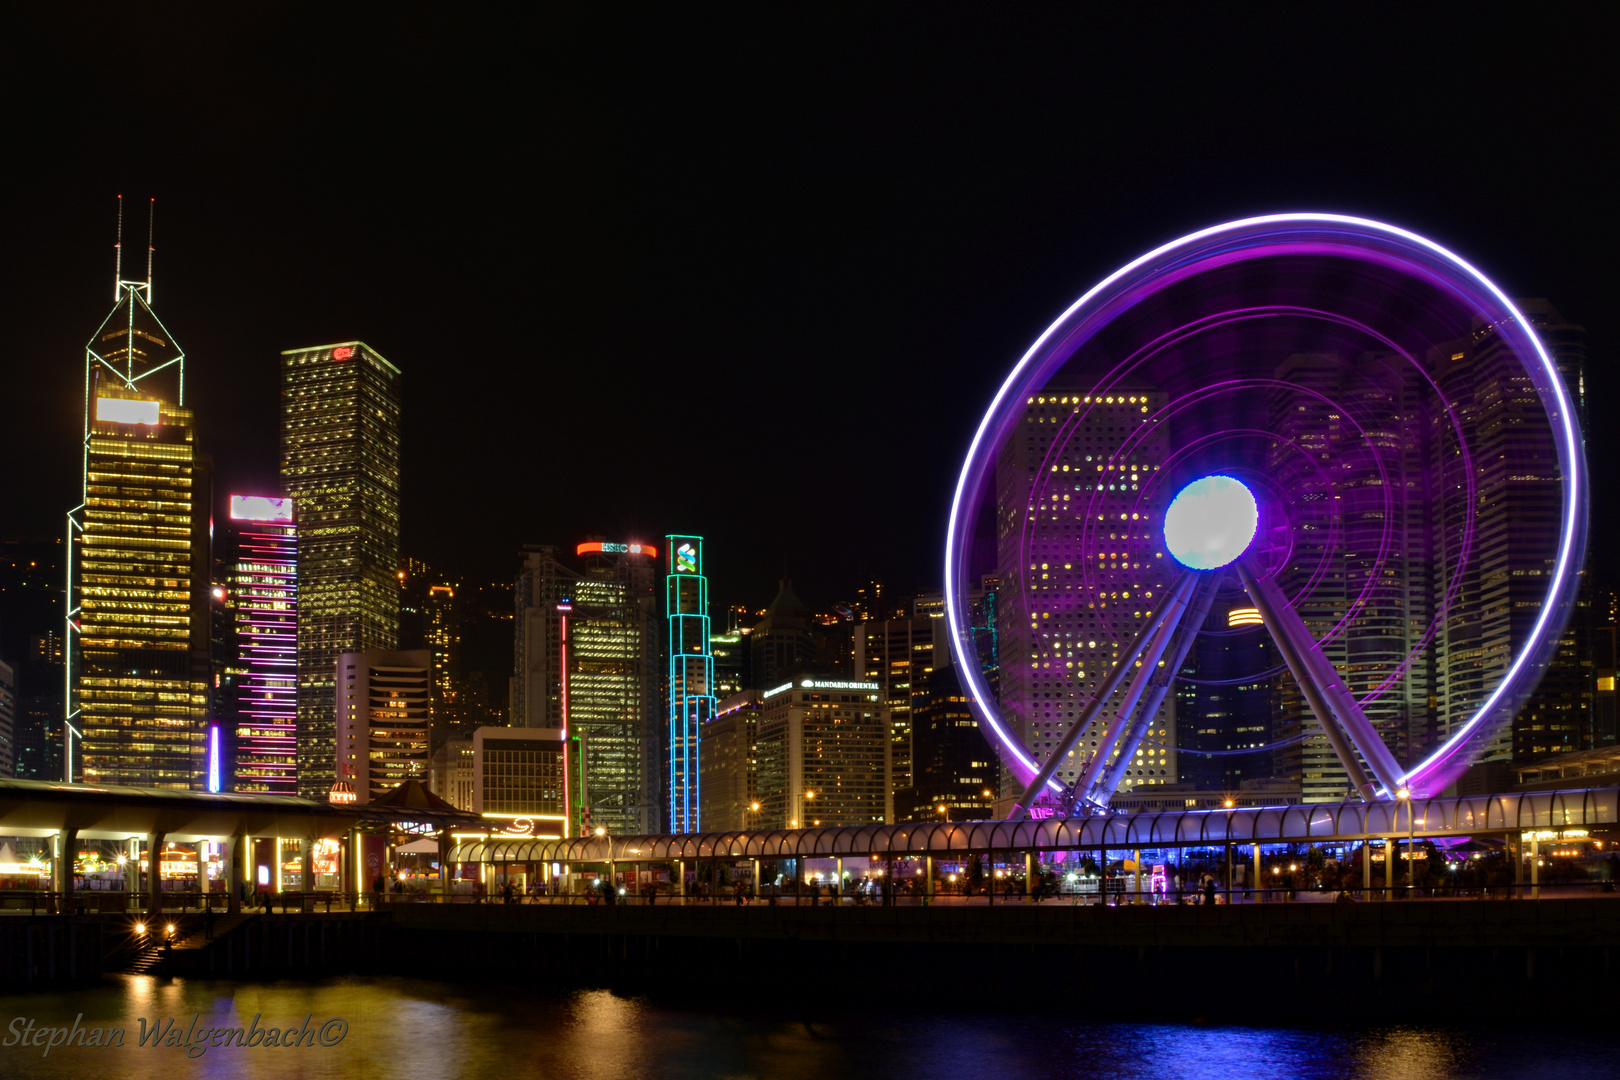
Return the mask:
{"type": "Polygon", "coordinates": [[[363,342],[282,353],[282,486],[298,505],[298,793],[337,776],[337,657],[399,644],[400,371],[363,342]]]}

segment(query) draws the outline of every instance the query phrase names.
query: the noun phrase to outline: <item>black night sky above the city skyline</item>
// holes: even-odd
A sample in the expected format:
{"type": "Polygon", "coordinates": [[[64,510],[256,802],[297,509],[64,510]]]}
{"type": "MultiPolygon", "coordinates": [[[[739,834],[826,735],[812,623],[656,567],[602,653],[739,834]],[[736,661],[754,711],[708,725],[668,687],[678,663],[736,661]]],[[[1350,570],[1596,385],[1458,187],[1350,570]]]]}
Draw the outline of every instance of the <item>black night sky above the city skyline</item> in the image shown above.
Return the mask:
{"type": "Polygon", "coordinates": [[[123,193],[136,257],[157,199],[220,491],[277,483],[279,350],[361,338],[405,372],[403,551],[468,581],[690,531],[716,604],[784,567],[813,604],[936,588],[1029,342],[1142,251],[1290,209],[1418,230],[1588,327],[1614,552],[1609,5],[334,8],[5,16],[0,534],[78,500],[123,193]]]}

